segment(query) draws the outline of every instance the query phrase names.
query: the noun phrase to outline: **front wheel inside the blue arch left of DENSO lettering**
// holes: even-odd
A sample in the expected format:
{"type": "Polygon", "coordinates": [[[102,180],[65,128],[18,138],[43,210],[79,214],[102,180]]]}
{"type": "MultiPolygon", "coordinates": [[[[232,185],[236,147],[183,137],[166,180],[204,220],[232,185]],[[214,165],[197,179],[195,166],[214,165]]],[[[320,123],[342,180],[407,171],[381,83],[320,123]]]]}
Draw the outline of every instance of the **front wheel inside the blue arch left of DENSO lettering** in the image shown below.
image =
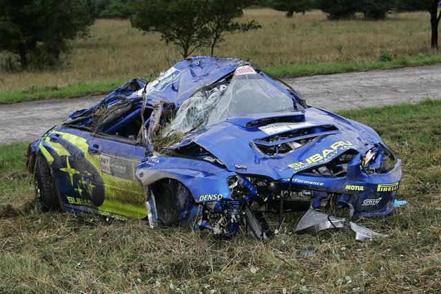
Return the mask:
{"type": "Polygon", "coordinates": [[[152,185],[158,220],[165,226],[183,226],[191,218],[196,202],[188,189],[173,179],[163,179],[152,185]],[[182,216],[185,214],[185,216],[182,216]]]}

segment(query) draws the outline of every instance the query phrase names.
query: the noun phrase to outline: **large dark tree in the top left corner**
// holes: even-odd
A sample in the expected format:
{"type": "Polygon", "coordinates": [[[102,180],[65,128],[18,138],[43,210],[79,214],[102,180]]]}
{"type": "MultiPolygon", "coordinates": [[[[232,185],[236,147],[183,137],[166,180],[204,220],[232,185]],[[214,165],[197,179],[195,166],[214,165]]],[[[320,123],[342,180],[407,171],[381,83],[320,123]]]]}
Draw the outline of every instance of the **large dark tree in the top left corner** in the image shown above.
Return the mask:
{"type": "Polygon", "coordinates": [[[22,69],[37,47],[57,63],[65,41],[92,24],[85,0],[0,0],[0,7],[0,50],[19,54],[22,69]]]}

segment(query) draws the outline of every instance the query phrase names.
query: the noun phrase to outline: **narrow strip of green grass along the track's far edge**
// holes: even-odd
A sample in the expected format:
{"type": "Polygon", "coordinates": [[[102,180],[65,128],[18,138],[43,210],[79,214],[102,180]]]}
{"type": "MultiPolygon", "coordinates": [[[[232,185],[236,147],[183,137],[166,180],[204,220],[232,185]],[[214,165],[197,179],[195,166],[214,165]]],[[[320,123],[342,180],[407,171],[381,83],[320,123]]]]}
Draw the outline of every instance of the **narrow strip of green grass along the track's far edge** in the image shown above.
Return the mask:
{"type": "MultiPolygon", "coordinates": [[[[418,65],[433,65],[441,63],[441,55],[423,55],[410,57],[393,57],[390,61],[367,61],[362,63],[325,63],[312,65],[275,65],[262,69],[280,78],[311,76],[314,74],[338,74],[342,72],[362,72],[366,70],[384,70],[398,67],[418,65]]],[[[23,101],[41,100],[47,98],[74,98],[93,94],[105,94],[126,81],[81,83],[66,87],[30,87],[16,92],[0,92],[0,104],[10,104],[23,101]]]]}

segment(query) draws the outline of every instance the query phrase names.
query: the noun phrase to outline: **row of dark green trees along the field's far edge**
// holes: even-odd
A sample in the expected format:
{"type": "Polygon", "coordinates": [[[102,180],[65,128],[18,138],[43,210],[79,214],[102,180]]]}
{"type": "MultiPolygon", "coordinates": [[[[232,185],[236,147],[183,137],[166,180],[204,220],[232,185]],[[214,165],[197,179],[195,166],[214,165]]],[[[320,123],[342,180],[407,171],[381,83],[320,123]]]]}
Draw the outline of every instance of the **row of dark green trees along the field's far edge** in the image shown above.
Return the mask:
{"type": "MultiPolygon", "coordinates": [[[[135,28],[161,33],[183,57],[197,48],[211,54],[227,34],[257,30],[257,20],[238,21],[250,6],[274,8],[293,17],[320,9],[329,19],[384,19],[391,10],[430,12],[431,46],[438,48],[439,0],[0,0],[0,51],[28,65],[59,65],[68,40],[87,37],[96,18],[130,19],[135,28]]],[[[12,57],[10,57],[10,64],[12,57]]]]}

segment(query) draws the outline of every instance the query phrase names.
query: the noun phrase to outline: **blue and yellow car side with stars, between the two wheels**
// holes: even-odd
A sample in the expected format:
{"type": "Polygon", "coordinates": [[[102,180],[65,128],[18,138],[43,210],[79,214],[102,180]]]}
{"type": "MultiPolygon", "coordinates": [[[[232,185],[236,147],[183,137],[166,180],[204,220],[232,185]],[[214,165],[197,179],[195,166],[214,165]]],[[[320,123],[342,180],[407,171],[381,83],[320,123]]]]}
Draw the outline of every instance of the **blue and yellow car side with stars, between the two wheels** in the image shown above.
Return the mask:
{"type": "Polygon", "coordinates": [[[145,148],[134,140],[71,127],[51,131],[41,142],[50,158],[65,211],[112,218],[145,218],[144,189],[134,171],[145,148]]]}

